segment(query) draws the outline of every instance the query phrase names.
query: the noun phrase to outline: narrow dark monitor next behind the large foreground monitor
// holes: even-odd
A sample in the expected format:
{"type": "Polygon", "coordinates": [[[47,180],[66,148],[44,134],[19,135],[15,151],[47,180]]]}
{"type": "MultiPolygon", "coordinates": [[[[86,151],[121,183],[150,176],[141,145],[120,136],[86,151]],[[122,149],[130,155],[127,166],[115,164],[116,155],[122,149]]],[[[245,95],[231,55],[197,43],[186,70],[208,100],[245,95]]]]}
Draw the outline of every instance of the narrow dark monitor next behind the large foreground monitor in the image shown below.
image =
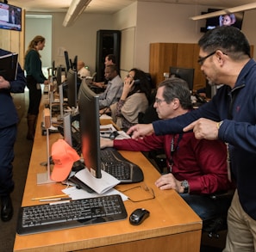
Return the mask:
{"type": "Polygon", "coordinates": [[[78,73],[69,69],[66,75],[66,92],[67,104],[70,108],[77,108],[78,106],[77,77],[78,73]]]}

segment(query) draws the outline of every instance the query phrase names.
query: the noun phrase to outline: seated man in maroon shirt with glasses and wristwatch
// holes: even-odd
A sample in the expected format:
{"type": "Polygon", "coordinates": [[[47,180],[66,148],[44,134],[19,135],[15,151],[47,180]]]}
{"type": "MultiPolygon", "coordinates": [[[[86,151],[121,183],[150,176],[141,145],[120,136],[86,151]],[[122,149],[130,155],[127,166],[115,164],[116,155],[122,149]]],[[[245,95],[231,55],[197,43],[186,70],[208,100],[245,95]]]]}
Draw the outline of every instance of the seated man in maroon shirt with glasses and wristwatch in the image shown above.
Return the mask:
{"type": "MultiPolygon", "coordinates": [[[[164,120],[188,113],[192,105],[187,83],[179,78],[159,83],[154,108],[164,120]]],[[[227,212],[230,202],[209,197],[232,187],[228,181],[227,149],[223,142],[198,140],[193,132],[188,132],[153,134],[140,139],[101,139],[101,148],[105,147],[125,151],[164,149],[169,173],[159,177],[156,187],[175,189],[203,220],[227,212]]]]}

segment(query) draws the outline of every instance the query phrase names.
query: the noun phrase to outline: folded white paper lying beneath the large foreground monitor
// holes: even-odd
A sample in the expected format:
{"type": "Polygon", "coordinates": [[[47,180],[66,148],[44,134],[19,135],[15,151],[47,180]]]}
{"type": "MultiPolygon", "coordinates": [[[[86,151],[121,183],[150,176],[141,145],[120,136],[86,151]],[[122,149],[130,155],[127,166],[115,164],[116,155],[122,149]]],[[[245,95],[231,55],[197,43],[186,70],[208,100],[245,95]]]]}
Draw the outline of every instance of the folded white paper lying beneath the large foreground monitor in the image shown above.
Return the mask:
{"type": "Polygon", "coordinates": [[[97,194],[103,194],[109,189],[116,187],[120,183],[114,176],[109,175],[105,171],[102,172],[102,177],[100,179],[91,175],[89,169],[81,169],[78,171],[75,176],[83,181],[88,187],[91,187],[97,194]]]}

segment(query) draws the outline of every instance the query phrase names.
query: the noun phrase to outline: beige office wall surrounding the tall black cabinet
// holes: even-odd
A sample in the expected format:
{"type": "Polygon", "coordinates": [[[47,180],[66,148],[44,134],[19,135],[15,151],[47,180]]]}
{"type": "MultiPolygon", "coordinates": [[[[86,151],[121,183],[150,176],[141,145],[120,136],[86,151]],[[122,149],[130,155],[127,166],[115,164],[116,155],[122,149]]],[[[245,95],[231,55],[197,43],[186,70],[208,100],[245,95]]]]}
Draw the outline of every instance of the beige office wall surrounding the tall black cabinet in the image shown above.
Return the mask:
{"type": "MultiPolygon", "coordinates": [[[[95,71],[96,38],[99,29],[122,31],[121,69],[128,71],[140,67],[148,71],[149,45],[153,42],[197,43],[203,35],[200,28],[205,21],[191,21],[190,16],[206,11],[210,6],[193,6],[178,3],[135,2],[115,15],[84,13],[71,27],[64,28],[66,14],[53,13],[53,59],[57,65],[65,65],[63,50],[70,58],[78,55],[95,71]]],[[[253,24],[256,10],[245,13],[242,30],[252,45],[256,45],[253,24]]]]}

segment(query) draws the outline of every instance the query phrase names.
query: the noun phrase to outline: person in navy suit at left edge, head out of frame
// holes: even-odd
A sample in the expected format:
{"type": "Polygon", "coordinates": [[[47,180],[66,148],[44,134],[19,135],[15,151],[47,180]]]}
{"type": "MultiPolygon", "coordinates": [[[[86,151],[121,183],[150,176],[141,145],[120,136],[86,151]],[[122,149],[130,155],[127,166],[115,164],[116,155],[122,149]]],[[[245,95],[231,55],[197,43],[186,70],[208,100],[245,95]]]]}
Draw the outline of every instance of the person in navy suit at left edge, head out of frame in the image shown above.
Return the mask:
{"type": "MultiPolygon", "coordinates": [[[[11,52],[0,49],[0,56],[11,52]]],[[[10,93],[23,93],[26,86],[24,72],[17,68],[15,81],[5,80],[0,75],[0,197],[1,219],[9,221],[13,215],[10,193],[14,189],[12,162],[16,142],[18,114],[10,93]]]]}

